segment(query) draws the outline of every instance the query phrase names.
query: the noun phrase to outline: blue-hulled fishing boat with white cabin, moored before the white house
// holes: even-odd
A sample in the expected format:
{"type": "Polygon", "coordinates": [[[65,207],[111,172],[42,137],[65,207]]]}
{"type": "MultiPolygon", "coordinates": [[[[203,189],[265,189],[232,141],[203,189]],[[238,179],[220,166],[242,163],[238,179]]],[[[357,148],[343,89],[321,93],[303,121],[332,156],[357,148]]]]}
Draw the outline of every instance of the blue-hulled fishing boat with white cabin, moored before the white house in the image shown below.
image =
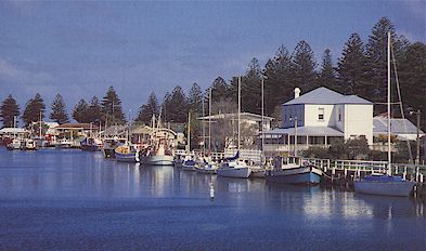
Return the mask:
{"type": "Polygon", "coordinates": [[[308,161],[301,161],[301,159],[297,158],[292,159],[294,162],[283,164],[282,158],[277,157],[274,169],[266,173],[264,177],[267,181],[295,185],[320,184],[321,176],[324,175],[321,169],[308,161]],[[302,163],[300,164],[300,162],[302,163]]]}

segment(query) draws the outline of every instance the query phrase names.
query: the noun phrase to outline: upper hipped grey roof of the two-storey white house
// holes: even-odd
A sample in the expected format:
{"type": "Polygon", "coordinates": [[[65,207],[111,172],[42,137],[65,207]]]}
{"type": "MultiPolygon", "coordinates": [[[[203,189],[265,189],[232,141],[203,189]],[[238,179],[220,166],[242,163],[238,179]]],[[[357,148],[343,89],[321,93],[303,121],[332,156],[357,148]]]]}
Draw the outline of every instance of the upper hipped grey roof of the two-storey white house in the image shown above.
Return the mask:
{"type": "Polygon", "coordinates": [[[319,105],[335,105],[335,104],[360,104],[360,105],[372,105],[370,101],[366,101],[357,95],[344,95],[327,88],[317,88],[304,95],[294,98],[283,105],[299,105],[299,104],[319,104],[319,105]]]}

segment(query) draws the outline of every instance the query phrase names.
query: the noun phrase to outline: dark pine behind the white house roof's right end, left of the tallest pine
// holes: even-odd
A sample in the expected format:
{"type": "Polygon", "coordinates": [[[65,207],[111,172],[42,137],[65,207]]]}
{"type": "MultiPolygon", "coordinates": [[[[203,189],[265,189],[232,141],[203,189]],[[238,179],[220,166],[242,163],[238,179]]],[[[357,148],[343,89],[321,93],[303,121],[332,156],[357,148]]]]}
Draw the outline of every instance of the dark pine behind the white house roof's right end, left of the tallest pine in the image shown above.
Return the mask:
{"type": "Polygon", "coordinates": [[[366,81],[364,45],[358,34],[352,34],[345,43],[337,65],[338,90],[345,94],[357,94],[364,98],[372,98],[372,85],[366,81]]]}

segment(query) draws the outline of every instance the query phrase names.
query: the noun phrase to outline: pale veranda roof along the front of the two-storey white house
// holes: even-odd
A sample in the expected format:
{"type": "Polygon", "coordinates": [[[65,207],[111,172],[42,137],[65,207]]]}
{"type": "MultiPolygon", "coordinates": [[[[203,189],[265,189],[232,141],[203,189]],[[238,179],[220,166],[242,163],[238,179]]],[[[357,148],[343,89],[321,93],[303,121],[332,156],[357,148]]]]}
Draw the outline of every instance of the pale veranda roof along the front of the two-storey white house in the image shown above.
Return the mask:
{"type": "MultiPolygon", "coordinates": [[[[269,135],[295,135],[296,130],[295,128],[275,128],[271,131],[266,131],[263,134],[269,135]]],[[[344,133],[328,127],[299,127],[297,128],[297,135],[298,136],[344,136],[344,133]]]]}

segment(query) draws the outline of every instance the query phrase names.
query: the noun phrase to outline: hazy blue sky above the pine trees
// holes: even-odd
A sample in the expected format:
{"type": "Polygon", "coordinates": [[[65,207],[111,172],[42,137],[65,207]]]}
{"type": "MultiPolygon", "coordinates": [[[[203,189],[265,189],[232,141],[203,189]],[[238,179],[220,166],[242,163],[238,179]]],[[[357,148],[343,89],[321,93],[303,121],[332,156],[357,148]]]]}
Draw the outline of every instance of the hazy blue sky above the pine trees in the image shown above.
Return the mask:
{"type": "Polygon", "coordinates": [[[221,76],[242,75],[253,57],[264,65],[301,39],[318,63],[334,57],[350,34],[365,42],[387,16],[398,34],[425,42],[425,1],[1,1],[0,100],[23,110],[39,92],[50,106],[61,93],[68,111],[114,85],[134,116],[151,92],[159,100],[221,76]]]}

